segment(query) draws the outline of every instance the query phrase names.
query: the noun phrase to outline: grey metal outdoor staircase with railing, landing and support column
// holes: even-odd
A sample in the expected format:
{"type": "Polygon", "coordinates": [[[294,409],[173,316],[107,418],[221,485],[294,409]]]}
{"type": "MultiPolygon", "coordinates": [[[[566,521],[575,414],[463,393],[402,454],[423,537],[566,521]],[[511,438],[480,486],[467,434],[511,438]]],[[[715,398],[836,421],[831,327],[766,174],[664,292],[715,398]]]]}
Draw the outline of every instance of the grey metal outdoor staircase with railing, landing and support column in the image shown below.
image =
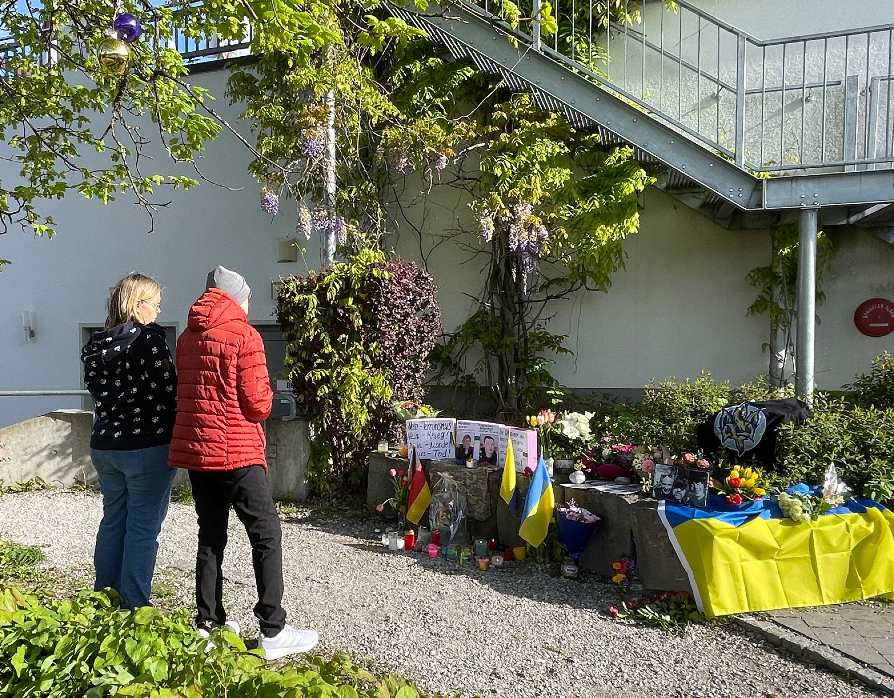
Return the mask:
{"type": "Polygon", "coordinates": [[[821,209],[826,225],[894,241],[894,25],[763,41],[686,0],[554,0],[559,30],[545,36],[540,3],[523,0],[515,27],[500,0],[391,11],[663,165],[658,186],[717,223],[799,219],[797,373],[810,399],[821,209]]]}

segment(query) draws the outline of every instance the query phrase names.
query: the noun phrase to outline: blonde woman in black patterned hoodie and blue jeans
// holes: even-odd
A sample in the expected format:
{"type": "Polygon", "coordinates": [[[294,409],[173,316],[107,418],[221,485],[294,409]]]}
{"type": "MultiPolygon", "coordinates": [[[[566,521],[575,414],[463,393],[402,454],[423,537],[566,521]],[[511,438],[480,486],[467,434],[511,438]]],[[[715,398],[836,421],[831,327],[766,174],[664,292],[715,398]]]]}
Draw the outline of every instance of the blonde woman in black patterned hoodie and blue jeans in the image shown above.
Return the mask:
{"type": "Polygon", "coordinates": [[[113,587],[131,609],[148,606],[158,534],[176,471],[168,467],[177,374],[164,330],[161,287],[139,273],[109,294],[105,330],[81,352],[96,406],[90,458],[103,492],[95,588],[113,587]]]}

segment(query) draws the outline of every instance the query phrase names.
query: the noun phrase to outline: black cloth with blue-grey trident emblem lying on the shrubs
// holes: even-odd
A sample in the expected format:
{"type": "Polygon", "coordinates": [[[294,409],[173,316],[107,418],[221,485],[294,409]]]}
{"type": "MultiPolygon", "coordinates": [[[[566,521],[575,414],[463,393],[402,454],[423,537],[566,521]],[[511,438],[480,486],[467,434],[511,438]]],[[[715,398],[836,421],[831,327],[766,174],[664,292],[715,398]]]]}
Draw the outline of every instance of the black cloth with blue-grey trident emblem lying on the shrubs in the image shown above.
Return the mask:
{"type": "Polygon", "coordinates": [[[731,462],[754,462],[776,467],[776,430],[779,425],[804,424],[813,411],[799,399],[740,402],[721,409],[698,426],[698,448],[706,454],[726,451],[731,462]]]}

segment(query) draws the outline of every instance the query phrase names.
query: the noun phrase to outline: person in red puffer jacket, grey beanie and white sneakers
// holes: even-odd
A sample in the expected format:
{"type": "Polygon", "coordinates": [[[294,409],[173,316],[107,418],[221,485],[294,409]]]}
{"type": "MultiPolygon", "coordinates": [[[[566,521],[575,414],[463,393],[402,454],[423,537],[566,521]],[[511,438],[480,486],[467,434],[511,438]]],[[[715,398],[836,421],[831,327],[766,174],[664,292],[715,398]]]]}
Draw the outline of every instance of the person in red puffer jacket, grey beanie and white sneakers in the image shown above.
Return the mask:
{"type": "Polygon", "coordinates": [[[229,626],[223,609],[223,550],[230,506],[249,534],[260,624],[257,646],[268,660],[308,652],[314,630],[286,625],[283,610],[283,534],[266,478],[260,423],[270,416],[273,391],[264,342],[249,324],[249,284],[218,266],[190,308],[177,342],[178,411],[168,456],[190,471],[198,515],[196,606],[199,635],[229,626]]]}

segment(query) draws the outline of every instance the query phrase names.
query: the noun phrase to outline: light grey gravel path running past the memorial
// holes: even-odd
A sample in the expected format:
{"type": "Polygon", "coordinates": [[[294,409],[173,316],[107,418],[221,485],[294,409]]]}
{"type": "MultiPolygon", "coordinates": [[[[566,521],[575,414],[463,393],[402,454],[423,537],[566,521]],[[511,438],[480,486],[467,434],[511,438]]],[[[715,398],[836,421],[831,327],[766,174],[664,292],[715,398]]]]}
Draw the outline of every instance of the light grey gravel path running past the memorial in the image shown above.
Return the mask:
{"type": "MultiPolygon", "coordinates": [[[[46,545],[49,563],[84,568],[101,516],[96,494],[0,498],[0,537],[46,545]]],[[[611,585],[564,580],[532,562],[488,572],[392,553],[367,520],[283,519],[284,606],[316,627],[323,652],[347,651],[417,681],[424,691],[485,698],[863,698],[862,685],[763,649],[736,629],[698,626],[685,637],[612,620],[611,585]]],[[[189,568],[191,507],[172,504],[164,565],[189,568]],[[185,563],[185,565],[184,565],[185,563]]],[[[231,517],[225,568],[251,580],[249,544],[231,517]]],[[[178,593],[188,598],[191,576],[178,593]]],[[[250,584],[226,584],[232,618],[257,632],[250,584]]]]}

